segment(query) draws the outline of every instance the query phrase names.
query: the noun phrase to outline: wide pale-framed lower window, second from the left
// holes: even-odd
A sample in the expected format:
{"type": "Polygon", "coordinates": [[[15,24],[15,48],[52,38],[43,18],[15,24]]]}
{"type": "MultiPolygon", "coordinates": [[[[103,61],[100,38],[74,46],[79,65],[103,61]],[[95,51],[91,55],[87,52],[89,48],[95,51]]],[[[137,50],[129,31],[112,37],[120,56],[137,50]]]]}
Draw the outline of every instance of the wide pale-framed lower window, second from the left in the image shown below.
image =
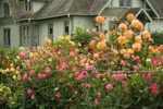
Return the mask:
{"type": "Polygon", "coordinates": [[[30,27],[23,26],[22,29],[22,44],[23,45],[30,45],[30,27]]]}

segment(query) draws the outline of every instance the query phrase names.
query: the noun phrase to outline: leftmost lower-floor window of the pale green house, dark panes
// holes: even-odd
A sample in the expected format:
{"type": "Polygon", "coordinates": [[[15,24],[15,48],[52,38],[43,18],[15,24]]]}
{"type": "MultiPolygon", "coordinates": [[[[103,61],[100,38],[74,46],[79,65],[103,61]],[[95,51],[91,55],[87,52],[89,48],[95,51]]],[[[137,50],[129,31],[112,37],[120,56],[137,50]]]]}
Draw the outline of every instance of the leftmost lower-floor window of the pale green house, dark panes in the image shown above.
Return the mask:
{"type": "Polygon", "coordinates": [[[3,39],[4,39],[4,46],[11,45],[10,28],[3,29],[3,39]]]}

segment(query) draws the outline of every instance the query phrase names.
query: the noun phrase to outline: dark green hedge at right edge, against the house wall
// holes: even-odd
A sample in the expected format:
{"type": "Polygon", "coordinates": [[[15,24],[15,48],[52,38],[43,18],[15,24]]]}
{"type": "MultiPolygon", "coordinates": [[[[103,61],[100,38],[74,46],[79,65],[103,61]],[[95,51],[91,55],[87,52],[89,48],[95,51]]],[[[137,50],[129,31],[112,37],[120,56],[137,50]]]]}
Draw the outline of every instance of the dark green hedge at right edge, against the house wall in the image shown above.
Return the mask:
{"type": "Polygon", "coordinates": [[[155,46],[163,45],[163,32],[154,32],[151,34],[155,46]]]}

